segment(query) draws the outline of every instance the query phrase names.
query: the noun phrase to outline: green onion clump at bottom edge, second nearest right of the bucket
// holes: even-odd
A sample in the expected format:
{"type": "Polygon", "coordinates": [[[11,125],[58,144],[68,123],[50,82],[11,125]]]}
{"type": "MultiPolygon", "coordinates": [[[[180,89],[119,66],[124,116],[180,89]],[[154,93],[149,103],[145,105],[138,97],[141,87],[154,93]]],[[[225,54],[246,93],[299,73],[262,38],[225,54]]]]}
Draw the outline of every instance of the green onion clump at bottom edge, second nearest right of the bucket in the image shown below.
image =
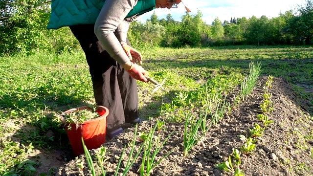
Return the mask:
{"type": "Polygon", "coordinates": [[[156,126],[150,130],[147,140],[144,144],[144,153],[142,156],[142,163],[140,168],[140,175],[141,176],[150,176],[153,168],[156,167],[157,164],[159,164],[165,157],[167,157],[169,154],[172,153],[169,152],[168,154],[165,154],[162,158],[160,158],[158,161],[155,162],[156,154],[159,153],[160,149],[164,146],[164,144],[168,141],[169,137],[172,135],[172,133],[160,144],[160,134],[157,135],[157,140],[154,139],[154,133],[156,131],[156,127],[158,127],[159,121],[156,123],[156,126]],[[153,142],[154,141],[154,142],[153,142]],[[152,147],[155,146],[155,151],[151,155],[152,147]]]}

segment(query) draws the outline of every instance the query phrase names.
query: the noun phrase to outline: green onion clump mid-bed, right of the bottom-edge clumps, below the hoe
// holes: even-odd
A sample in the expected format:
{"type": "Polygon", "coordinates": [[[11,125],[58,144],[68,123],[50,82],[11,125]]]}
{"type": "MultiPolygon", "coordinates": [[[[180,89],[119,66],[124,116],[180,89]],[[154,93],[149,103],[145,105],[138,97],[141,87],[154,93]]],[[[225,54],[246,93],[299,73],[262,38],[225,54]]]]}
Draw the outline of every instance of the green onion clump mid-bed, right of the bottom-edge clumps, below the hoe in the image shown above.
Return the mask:
{"type": "MultiPolygon", "coordinates": [[[[192,149],[193,146],[195,146],[198,141],[203,137],[203,135],[210,129],[207,128],[205,132],[202,133],[201,136],[198,136],[199,128],[202,123],[203,119],[198,119],[196,124],[193,122],[193,118],[191,117],[191,112],[193,110],[194,106],[189,110],[188,114],[186,115],[186,123],[184,128],[184,139],[183,139],[183,156],[186,156],[188,152],[192,149]],[[188,126],[190,126],[190,129],[188,131],[188,126]]],[[[204,118],[204,117],[202,117],[204,118]]]]}

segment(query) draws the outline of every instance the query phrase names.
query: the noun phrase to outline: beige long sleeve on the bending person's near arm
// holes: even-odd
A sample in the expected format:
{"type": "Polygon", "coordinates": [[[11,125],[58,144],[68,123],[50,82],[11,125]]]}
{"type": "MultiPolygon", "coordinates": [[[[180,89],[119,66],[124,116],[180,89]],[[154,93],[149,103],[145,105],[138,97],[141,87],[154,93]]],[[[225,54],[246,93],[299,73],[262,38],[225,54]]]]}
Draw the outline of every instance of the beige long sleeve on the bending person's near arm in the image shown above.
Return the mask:
{"type": "Polygon", "coordinates": [[[126,42],[130,22],[136,17],[128,18],[127,21],[124,19],[134,8],[137,1],[106,0],[94,25],[94,33],[98,40],[120,65],[124,65],[129,61],[120,42],[126,42]],[[116,31],[116,36],[114,31],[116,31]]]}

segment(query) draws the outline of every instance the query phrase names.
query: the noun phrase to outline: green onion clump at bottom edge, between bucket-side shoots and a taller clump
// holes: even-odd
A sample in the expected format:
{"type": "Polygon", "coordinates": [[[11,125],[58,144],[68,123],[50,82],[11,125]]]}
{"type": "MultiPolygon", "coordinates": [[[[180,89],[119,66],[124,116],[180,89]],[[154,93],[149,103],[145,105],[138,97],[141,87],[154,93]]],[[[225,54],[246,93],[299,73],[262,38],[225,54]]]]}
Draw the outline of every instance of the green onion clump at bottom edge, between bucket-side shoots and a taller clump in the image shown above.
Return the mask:
{"type": "MultiPolygon", "coordinates": [[[[137,129],[138,129],[138,124],[136,125],[135,127],[135,132],[134,132],[134,139],[133,139],[133,143],[131,144],[132,148],[131,148],[131,152],[130,154],[128,155],[128,160],[127,160],[127,163],[123,169],[123,174],[121,174],[121,176],[125,176],[128,171],[131,169],[131,167],[133,166],[135,160],[137,159],[138,155],[140,154],[143,146],[144,146],[144,143],[140,146],[138,152],[134,155],[133,157],[133,160],[132,159],[132,156],[133,156],[133,153],[134,153],[134,147],[135,147],[135,143],[136,143],[136,136],[137,136],[137,129]]],[[[125,154],[125,150],[126,150],[126,145],[123,149],[123,152],[121,154],[121,156],[119,157],[119,161],[118,161],[118,164],[117,164],[117,168],[116,168],[116,171],[114,173],[114,176],[117,176],[118,175],[118,170],[120,169],[120,166],[121,166],[121,163],[122,163],[122,160],[123,160],[123,156],[125,154]]],[[[120,176],[120,175],[119,175],[120,176]]]]}

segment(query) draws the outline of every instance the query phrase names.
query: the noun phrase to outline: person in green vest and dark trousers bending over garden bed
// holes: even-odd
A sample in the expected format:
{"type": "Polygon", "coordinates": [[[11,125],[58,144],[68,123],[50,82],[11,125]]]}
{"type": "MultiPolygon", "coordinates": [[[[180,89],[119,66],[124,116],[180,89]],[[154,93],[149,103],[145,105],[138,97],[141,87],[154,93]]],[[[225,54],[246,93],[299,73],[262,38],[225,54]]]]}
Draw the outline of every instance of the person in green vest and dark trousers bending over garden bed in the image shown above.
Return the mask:
{"type": "MultiPolygon", "coordinates": [[[[54,0],[48,29],[69,26],[83,48],[97,105],[109,109],[107,132],[114,137],[126,123],[141,122],[136,80],[148,82],[141,54],[130,47],[130,22],[154,8],[181,0],[54,0]]],[[[186,8],[187,9],[187,8],[186,8]]],[[[189,9],[188,9],[189,10],[189,9]]],[[[187,11],[188,11],[187,10],[187,11]]]]}

